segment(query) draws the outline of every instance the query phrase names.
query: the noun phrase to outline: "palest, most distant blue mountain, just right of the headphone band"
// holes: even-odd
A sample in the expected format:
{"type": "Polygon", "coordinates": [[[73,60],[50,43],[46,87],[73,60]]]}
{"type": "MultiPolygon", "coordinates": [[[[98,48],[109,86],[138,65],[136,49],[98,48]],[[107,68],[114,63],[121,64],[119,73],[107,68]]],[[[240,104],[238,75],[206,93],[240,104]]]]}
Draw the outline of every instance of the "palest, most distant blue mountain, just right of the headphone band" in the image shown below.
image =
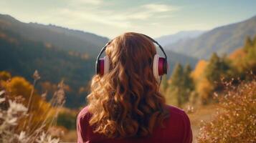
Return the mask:
{"type": "Polygon", "coordinates": [[[161,46],[166,46],[169,44],[174,44],[177,41],[185,40],[185,39],[193,39],[200,35],[202,35],[205,31],[193,30],[193,31],[179,31],[176,34],[161,36],[156,39],[156,41],[161,44],[161,46]]]}

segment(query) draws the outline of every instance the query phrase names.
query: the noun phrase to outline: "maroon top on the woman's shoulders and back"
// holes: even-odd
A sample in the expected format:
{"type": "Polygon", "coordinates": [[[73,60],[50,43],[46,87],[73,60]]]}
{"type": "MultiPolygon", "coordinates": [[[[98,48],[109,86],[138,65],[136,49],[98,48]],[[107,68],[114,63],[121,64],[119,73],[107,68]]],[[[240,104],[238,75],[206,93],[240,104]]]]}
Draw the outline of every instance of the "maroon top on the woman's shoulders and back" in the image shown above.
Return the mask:
{"type": "Polygon", "coordinates": [[[129,139],[108,139],[103,135],[93,133],[92,127],[90,127],[88,121],[90,119],[90,113],[88,107],[82,109],[77,116],[77,142],[90,143],[90,142],[104,142],[104,143],[125,143],[125,142],[174,142],[174,143],[191,143],[192,132],[189,122],[189,117],[186,113],[176,107],[168,105],[170,117],[163,121],[166,128],[156,127],[151,137],[141,138],[129,138],[129,139]]]}

